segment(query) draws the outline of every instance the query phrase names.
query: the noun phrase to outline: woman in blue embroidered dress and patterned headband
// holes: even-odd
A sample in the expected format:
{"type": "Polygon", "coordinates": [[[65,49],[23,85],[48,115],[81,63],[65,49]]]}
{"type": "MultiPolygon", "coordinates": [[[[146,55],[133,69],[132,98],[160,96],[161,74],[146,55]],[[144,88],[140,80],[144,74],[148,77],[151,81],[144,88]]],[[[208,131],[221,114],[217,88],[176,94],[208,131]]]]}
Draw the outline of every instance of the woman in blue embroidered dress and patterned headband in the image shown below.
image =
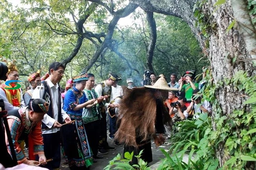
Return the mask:
{"type": "Polygon", "coordinates": [[[88,170],[93,164],[93,154],[85,132],[82,112],[83,108],[92,107],[97,101],[88,100],[83,92],[87,80],[87,73],[73,77],[74,85],[65,95],[63,109],[72,121],[75,120],[72,124],[61,127],[65,158],[70,170],[88,170]]]}

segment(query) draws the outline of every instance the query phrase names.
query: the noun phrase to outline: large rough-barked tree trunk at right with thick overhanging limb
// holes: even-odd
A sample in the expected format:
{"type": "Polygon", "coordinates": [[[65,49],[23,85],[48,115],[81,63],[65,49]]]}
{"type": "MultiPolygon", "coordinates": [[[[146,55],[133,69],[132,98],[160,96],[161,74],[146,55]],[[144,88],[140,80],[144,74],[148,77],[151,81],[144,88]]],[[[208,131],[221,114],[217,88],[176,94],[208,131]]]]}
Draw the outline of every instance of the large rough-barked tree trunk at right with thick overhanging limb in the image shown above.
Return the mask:
{"type": "MultiPolygon", "coordinates": [[[[191,27],[192,32],[197,37],[200,46],[205,48],[205,39],[195,25],[196,18],[193,15],[193,6],[195,0],[130,0],[138,4],[145,11],[163,13],[167,15],[178,16],[183,18],[191,27]]],[[[213,82],[217,84],[224,79],[231,79],[239,70],[247,72],[248,76],[255,75],[255,68],[252,65],[252,54],[246,48],[243,34],[232,28],[228,33],[226,29],[233,20],[233,9],[230,1],[226,1],[217,10],[214,4],[217,0],[208,0],[204,4],[204,17],[208,21],[209,27],[207,33],[209,35],[210,47],[209,59],[212,68],[213,82]]],[[[254,47],[255,48],[255,47],[254,47]]],[[[239,91],[233,84],[223,84],[215,91],[216,99],[221,107],[221,115],[230,115],[236,109],[241,109],[245,106],[242,102],[245,101],[243,91],[239,91]]],[[[215,113],[217,108],[213,106],[212,126],[216,130],[215,113]]],[[[215,149],[219,165],[222,167],[228,156],[224,154],[224,142],[219,143],[219,147],[215,149]]],[[[255,167],[254,167],[255,168],[255,167]]]]}

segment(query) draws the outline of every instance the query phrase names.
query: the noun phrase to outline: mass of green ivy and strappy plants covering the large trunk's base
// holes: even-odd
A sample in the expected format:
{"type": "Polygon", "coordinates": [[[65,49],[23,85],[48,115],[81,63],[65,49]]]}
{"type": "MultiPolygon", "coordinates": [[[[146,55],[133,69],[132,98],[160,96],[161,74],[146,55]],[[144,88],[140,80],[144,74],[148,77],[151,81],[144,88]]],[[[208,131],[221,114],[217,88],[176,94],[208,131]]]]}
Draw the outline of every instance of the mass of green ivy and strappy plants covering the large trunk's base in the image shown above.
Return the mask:
{"type": "Polygon", "coordinates": [[[179,132],[171,139],[171,156],[166,155],[158,170],[241,170],[256,163],[256,76],[248,77],[244,71],[238,71],[232,79],[213,84],[211,71],[204,71],[208,84],[201,92],[213,106],[215,128],[206,114],[200,114],[196,121],[179,122],[176,125],[179,132]],[[247,101],[241,109],[223,115],[215,91],[228,85],[245,93],[247,101]],[[219,147],[223,147],[222,156],[228,158],[223,167],[219,167],[214,150],[219,147]],[[183,161],[185,154],[188,155],[187,164],[183,161]]]}

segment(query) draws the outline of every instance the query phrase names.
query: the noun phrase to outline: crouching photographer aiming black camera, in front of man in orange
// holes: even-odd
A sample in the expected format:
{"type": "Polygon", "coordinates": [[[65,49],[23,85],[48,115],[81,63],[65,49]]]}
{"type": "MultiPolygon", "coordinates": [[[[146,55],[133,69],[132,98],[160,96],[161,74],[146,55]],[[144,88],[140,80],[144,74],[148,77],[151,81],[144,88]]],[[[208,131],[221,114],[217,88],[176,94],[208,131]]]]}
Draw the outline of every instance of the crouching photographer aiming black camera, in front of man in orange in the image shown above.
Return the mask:
{"type": "Polygon", "coordinates": [[[169,114],[173,117],[173,123],[187,119],[188,113],[185,106],[187,99],[185,97],[179,97],[177,102],[171,103],[171,109],[169,114]]]}

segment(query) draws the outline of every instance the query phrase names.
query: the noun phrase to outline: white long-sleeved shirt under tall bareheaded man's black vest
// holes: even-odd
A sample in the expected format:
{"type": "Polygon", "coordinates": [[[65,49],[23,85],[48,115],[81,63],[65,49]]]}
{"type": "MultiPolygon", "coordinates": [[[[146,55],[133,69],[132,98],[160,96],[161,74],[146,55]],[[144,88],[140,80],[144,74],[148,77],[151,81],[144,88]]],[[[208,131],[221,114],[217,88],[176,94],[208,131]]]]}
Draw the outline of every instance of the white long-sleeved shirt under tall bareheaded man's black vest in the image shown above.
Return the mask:
{"type": "MultiPolygon", "coordinates": [[[[49,115],[47,115],[47,113],[45,114],[44,116],[44,119],[42,120],[42,122],[48,127],[48,128],[52,128],[52,125],[54,124],[54,122],[56,120],[58,120],[58,112],[59,112],[59,109],[58,109],[58,103],[59,103],[59,100],[61,101],[61,117],[63,118],[63,121],[69,117],[69,115],[67,115],[67,113],[63,110],[63,100],[61,98],[61,95],[59,95],[59,85],[58,83],[56,84],[56,86],[50,81],[49,78],[47,78],[45,80],[48,84],[48,86],[50,87],[50,93],[51,93],[51,96],[52,96],[52,108],[53,108],[53,117],[50,117],[49,115]],[[58,95],[60,96],[59,99],[58,99],[58,95]]],[[[35,88],[35,90],[33,91],[33,96],[32,96],[32,99],[43,99],[43,95],[44,95],[44,91],[45,91],[45,86],[44,84],[41,84],[39,86],[37,86],[35,88]]],[[[47,101],[49,102],[49,101],[47,101]]],[[[49,102],[50,104],[50,102],[49,102]]],[[[59,131],[59,128],[53,128],[53,129],[50,129],[50,130],[43,130],[43,134],[47,134],[47,133],[56,133],[57,131],[59,131]]]]}

